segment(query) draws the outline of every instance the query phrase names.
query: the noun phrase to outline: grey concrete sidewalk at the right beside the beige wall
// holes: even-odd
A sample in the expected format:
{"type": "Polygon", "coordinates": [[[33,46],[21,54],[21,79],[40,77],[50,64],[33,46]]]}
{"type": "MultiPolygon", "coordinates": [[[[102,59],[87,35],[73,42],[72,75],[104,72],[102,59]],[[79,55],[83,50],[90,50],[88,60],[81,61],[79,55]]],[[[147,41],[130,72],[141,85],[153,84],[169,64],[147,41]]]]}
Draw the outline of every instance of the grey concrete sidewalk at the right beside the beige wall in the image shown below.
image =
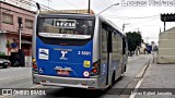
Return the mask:
{"type": "Polygon", "coordinates": [[[175,64],[152,63],[139,88],[147,88],[142,89],[147,91],[142,95],[137,94],[135,98],[175,98],[175,64]],[[160,93],[162,95],[159,95],[160,93]]]}

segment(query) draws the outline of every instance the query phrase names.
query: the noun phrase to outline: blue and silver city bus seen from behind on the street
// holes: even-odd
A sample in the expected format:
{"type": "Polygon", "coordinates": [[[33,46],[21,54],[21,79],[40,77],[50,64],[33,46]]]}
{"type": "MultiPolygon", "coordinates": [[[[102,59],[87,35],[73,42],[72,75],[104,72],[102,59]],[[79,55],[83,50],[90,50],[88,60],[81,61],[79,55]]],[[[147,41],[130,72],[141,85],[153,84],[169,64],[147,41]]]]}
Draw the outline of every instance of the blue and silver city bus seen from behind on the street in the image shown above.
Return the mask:
{"type": "Polygon", "coordinates": [[[33,34],[33,83],[105,89],[124,75],[127,37],[95,14],[39,13],[33,34]]]}

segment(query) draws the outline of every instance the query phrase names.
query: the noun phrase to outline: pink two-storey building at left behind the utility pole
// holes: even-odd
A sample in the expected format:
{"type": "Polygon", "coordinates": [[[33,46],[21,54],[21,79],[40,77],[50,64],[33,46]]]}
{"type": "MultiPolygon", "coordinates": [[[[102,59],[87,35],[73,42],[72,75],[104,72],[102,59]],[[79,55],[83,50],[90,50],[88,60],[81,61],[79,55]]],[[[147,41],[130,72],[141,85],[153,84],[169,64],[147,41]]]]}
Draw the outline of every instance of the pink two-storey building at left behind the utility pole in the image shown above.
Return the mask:
{"type": "MultiPolygon", "coordinates": [[[[14,1],[14,0],[9,0],[14,1]]],[[[16,0],[15,0],[16,1],[16,0]]],[[[20,0],[19,0],[20,1],[20,0]]],[[[0,1],[0,52],[11,56],[19,51],[19,23],[22,20],[22,50],[32,56],[32,34],[35,12],[0,1]]]]}

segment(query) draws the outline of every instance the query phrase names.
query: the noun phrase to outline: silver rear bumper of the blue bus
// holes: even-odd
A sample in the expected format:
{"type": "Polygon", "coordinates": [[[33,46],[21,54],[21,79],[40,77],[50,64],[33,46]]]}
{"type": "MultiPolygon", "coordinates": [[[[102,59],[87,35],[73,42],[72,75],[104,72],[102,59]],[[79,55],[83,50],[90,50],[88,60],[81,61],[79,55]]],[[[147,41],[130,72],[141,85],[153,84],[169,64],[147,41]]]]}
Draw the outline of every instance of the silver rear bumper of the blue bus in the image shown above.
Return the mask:
{"type": "Polygon", "coordinates": [[[33,75],[34,84],[44,86],[61,86],[61,87],[75,87],[75,88],[91,88],[98,89],[97,78],[75,78],[75,77],[58,77],[48,75],[33,75]]]}

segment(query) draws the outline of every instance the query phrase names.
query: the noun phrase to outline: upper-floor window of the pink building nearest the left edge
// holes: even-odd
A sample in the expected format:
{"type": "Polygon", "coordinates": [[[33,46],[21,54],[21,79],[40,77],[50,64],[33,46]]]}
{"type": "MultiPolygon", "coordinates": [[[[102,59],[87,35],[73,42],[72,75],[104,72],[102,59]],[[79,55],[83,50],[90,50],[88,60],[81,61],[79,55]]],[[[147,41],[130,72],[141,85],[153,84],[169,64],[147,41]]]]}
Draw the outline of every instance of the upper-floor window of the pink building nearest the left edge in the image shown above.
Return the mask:
{"type": "Polygon", "coordinates": [[[13,24],[13,15],[8,13],[2,13],[2,23],[13,24]]]}

